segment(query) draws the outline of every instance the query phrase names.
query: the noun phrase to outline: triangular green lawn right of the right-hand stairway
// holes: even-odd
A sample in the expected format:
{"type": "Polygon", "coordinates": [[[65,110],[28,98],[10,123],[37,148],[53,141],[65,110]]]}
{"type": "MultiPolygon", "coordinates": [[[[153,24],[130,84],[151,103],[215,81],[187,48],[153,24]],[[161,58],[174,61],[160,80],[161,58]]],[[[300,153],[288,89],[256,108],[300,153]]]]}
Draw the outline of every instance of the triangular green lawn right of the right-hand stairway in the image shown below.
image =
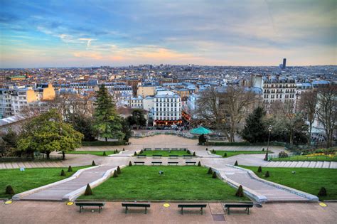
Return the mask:
{"type": "Polygon", "coordinates": [[[262,173],[257,173],[257,167],[255,166],[242,167],[254,171],[257,176],[267,181],[311,193],[314,196],[317,196],[321,187],[325,187],[328,196],[319,197],[319,199],[322,201],[337,199],[336,169],[262,167],[262,173]],[[266,171],[269,171],[270,176],[268,178],[264,177],[266,171]],[[291,171],[296,173],[292,174],[291,171]]]}

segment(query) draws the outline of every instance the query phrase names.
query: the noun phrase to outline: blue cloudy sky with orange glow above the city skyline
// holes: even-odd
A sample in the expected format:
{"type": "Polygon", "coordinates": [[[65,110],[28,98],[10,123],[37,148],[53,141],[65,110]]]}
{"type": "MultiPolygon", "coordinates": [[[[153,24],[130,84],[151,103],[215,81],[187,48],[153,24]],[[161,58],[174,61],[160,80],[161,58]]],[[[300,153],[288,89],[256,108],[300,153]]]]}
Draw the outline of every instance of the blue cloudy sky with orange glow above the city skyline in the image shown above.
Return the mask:
{"type": "Polygon", "coordinates": [[[0,68],[336,65],[336,43],[336,0],[0,0],[0,68]]]}

